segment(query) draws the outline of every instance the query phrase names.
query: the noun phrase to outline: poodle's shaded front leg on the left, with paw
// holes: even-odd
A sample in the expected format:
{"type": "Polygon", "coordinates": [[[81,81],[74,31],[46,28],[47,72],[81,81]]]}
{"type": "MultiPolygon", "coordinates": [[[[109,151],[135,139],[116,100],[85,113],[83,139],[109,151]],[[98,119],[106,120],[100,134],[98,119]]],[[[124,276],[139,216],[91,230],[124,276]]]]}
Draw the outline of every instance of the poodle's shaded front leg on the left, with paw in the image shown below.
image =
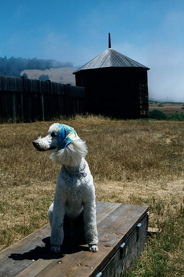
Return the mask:
{"type": "Polygon", "coordinates": [[[63,243],[63,219],[64,219],[64,205],[57,199],[54,199],[52,231],[51,231],[51,251],[59,252],[60,246],[63,243]]]}

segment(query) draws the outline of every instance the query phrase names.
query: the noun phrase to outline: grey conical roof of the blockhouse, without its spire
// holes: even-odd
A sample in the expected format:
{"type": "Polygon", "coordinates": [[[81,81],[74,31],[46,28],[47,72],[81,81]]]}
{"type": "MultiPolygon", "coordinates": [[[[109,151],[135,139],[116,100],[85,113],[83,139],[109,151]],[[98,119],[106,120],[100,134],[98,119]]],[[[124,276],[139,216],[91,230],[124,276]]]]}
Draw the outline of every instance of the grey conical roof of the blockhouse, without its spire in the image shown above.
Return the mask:
{"type": "Polygon", "coordinates": [[[79,69],[75,70],[73,74],[80,70],[102,68],[102,67],[144,67],[149,70],[147,66],[142,65],[139,62],[126,57],[125,55],[117,52],[112,48],[108,48],[103,53],[99,54],[97,57],[87,62],[85,65],[81,66],[79,69]]]}

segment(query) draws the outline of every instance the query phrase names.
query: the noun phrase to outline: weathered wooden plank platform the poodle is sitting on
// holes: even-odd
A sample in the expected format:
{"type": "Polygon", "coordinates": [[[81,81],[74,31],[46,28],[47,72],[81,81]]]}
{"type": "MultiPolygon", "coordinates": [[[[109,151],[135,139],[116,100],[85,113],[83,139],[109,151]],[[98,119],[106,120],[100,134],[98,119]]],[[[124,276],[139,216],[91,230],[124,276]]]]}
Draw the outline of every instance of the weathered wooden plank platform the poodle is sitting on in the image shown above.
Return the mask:
{"type": "Polygon", "coordinates": [[[98,248],[49,252],[49,224],[0,252],[0,276],[119,277],[133,267],[147,240],[148,206],[97,202],[98,248]],[[98,275],[98,273],[102,273],[98,275]]]}

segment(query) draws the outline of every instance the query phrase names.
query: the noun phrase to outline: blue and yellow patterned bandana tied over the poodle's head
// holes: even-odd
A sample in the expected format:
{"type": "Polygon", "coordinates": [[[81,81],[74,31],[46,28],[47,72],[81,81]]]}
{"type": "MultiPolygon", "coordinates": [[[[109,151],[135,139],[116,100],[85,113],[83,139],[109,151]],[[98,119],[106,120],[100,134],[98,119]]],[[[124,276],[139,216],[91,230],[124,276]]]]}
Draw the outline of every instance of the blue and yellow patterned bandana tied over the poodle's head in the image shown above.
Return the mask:
{"type": "Polygon", "coordinates": [[[80,139],[74,128],[71,126],[57,123],[59,126],[58,130],[58,151],[67,147],[67,145],[75,140],[80,139]]]}

